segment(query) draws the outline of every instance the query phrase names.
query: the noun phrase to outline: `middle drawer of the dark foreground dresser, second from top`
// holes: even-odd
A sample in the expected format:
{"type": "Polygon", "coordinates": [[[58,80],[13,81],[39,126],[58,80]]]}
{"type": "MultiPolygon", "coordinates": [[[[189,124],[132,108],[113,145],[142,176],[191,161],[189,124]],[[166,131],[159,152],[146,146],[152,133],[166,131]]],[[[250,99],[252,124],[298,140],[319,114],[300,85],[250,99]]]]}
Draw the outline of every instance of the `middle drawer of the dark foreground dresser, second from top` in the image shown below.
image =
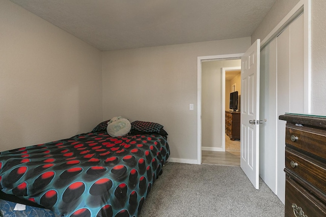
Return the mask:
{"type": "Polygon", "coordinates": [[[285,167],[326,193],[326,167],[321,162],[286,147],[285,167]]]}

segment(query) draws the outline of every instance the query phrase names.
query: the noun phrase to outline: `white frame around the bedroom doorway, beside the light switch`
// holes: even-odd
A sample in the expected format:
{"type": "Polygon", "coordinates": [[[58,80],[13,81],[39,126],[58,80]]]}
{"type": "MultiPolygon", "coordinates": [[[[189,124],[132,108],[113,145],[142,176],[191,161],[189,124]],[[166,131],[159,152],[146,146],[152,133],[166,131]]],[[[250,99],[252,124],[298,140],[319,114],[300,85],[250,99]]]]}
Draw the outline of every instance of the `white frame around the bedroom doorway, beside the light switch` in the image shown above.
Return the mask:
{"type": "MultiPolygon", "coordinates": [[[[202,163],[202,61],[240,59],[243,53],[197,57],[197,164],[202,163]]],[[[223,80],[223,79],[222,79],[223,80]]],[[[225,88],[225,79],[224,79],[225,88]]],[[[224,99],[225,109],[225,99],[224,99]]],[[[222,118],[223,120],[223,118],[222,118]]],[[[225,125],[224,125],[225,128],[225,125]]],[[[225,129],[224,129],[225,131],[225,129]]],[[[225,143],[225,142],[224,142],[225,143]]]]}

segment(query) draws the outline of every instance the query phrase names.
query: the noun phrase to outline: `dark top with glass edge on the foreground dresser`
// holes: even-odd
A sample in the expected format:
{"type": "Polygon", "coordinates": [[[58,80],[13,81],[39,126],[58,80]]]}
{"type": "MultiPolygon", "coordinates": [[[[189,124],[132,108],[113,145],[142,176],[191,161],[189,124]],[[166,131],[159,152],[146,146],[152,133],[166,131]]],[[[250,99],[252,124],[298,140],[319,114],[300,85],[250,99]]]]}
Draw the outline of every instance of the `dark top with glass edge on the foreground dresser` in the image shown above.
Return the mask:
{"type": "Polygon", "coordinates": [[[326,116],[323,115],[285,113],[280,115],[279,119],[311,127],[326,128],[326,116]]]}

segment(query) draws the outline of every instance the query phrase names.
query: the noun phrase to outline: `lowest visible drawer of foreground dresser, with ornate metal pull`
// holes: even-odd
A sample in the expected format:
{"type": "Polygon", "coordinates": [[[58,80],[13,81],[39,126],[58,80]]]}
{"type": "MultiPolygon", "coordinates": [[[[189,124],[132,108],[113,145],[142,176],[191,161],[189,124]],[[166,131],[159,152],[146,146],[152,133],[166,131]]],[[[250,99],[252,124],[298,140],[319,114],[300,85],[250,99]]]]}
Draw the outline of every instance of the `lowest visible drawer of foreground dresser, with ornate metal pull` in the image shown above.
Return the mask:
{"type": "Polygon", "coordinates": [[[285,189],[286,217],[326,216],[326,206],[309,194],[309,192],[289,176],[286,176],[285,189]]]}

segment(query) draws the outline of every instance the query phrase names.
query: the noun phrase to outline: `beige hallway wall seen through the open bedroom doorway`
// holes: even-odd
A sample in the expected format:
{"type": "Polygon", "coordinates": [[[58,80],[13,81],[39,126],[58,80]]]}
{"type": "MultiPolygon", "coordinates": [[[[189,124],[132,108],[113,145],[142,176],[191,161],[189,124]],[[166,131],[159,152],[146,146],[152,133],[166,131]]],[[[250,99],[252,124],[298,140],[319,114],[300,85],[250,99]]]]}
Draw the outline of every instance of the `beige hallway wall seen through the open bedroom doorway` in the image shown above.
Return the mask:
{"type": "MultiPolygon", "coordinates": [[[[222,68],[240,67],[241,59],[202,63],[202,147],[222,148],[224,109],[222,108],[222,68]]],[[[236,82],[237,79],[232,79],[236,82]]],[[[232,85],[232,81],[230,86],[232,85]]],[[[227,83],[226,83],[227,85],[227,83]]],[[[238,85],[238,84],[237,84],[238,85]]],[[[239,87],[239,86],[237,86],[239,87]]],[[[231,89],[231,87],[230,87],[231,89]]],[[[226,92],[226,91],[225,91],[226,92]]],[[[230,91],[228,91],[230,98],[230,91]]],[[[227,111],[229,109],[228,101],[227,111]]]]}

